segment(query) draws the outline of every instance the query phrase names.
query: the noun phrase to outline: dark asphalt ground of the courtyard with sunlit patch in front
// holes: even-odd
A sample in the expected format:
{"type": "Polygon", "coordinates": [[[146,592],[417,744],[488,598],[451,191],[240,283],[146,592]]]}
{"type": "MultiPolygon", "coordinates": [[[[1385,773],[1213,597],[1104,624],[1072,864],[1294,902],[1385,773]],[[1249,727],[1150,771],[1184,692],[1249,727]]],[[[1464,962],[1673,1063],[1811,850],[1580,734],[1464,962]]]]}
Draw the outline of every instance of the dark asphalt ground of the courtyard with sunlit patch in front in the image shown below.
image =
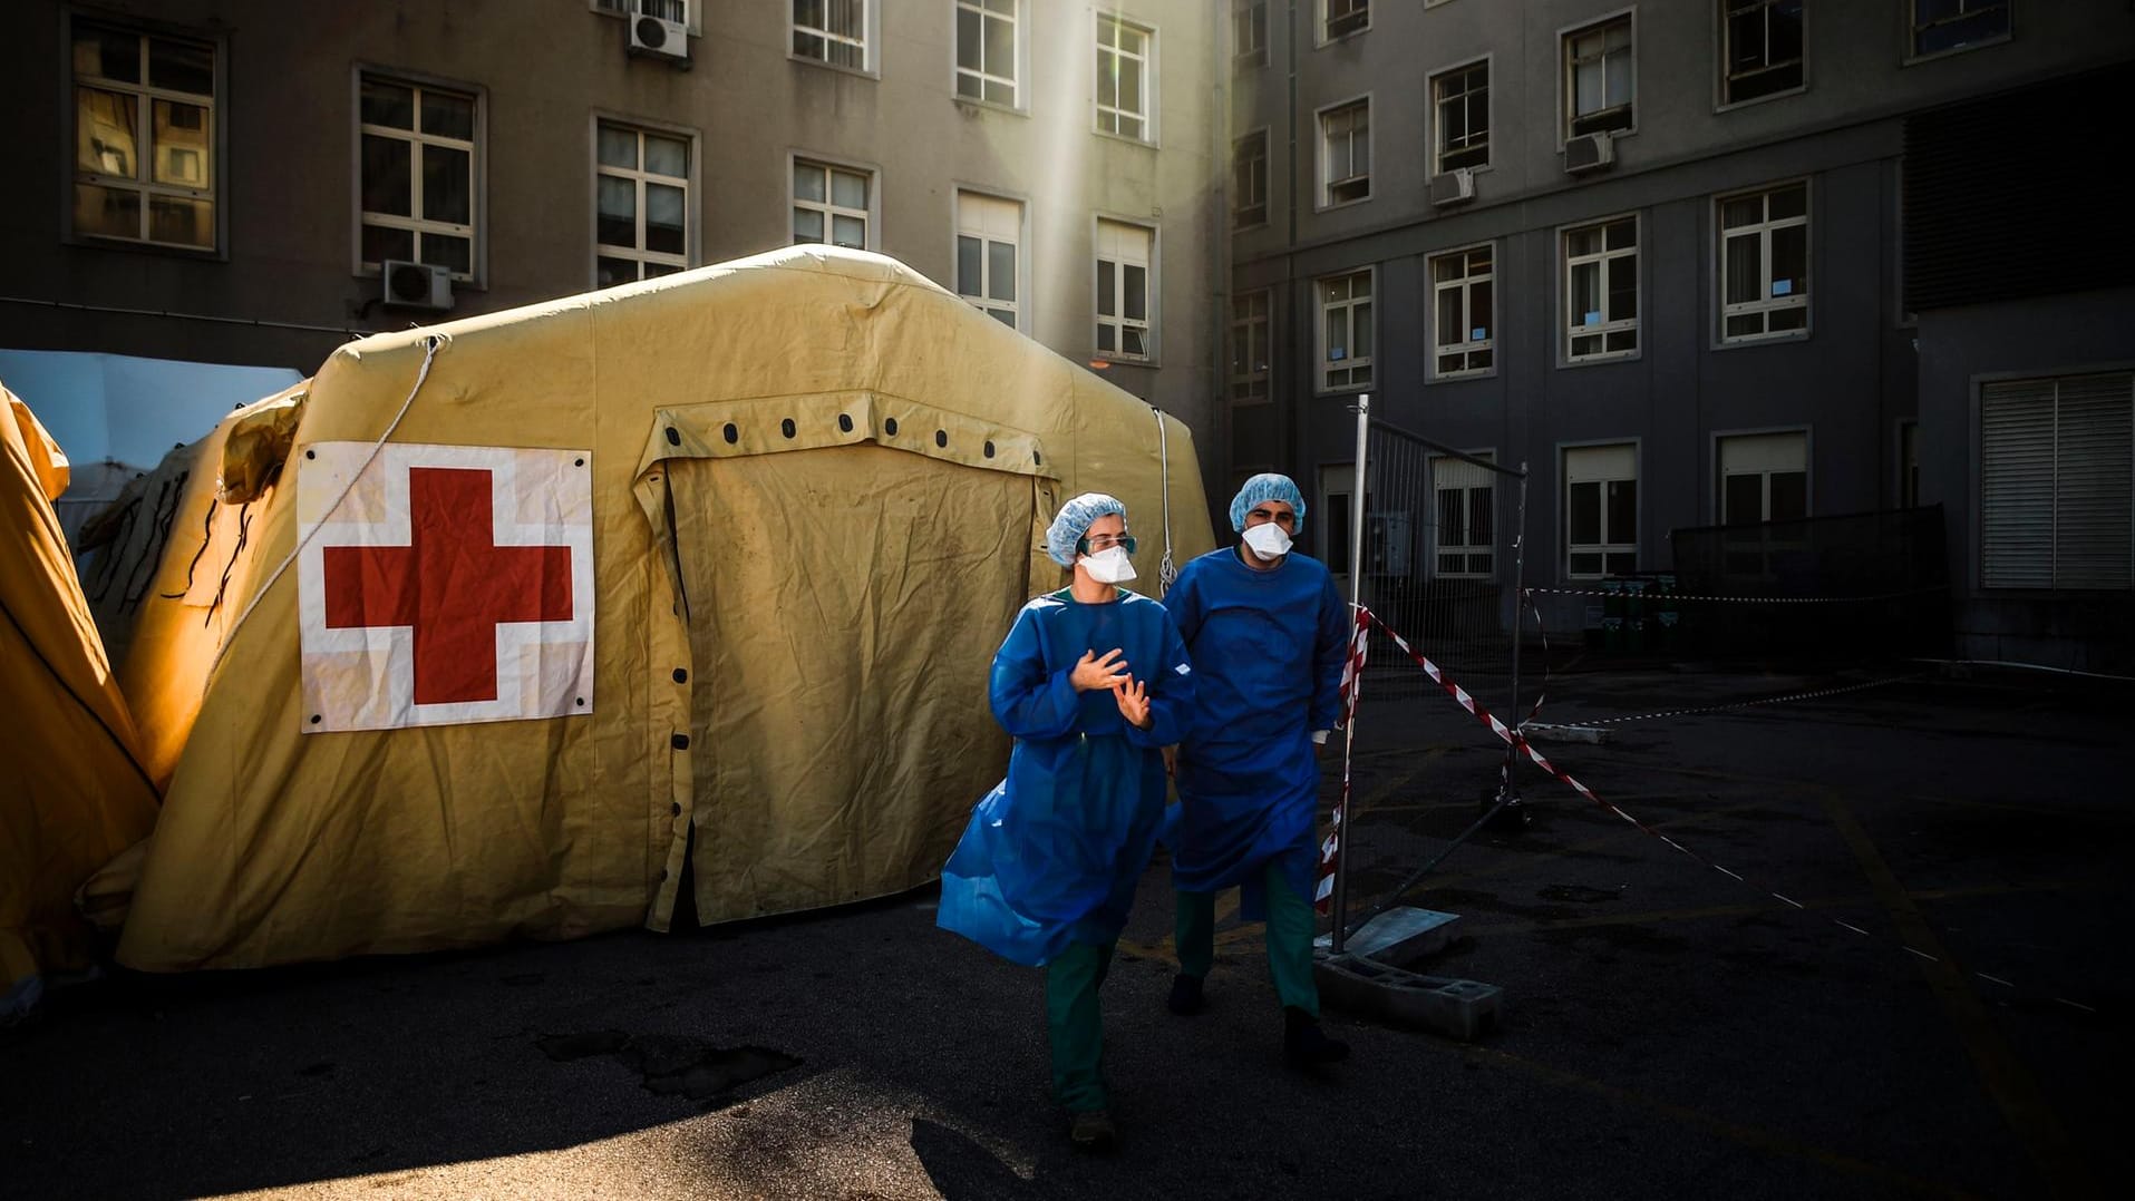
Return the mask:
{"type": "MultiPolygon", "coordinates": [[[[1883,678],[1597,668],[1541,719],[1883,678]]],[[[2120,1195],[2135,689],[1930,670],[1610,730],[1541,749],[1749,883],[1522,768],[1531,826],[1411,898],[1460,915],[1426,971],[1501,986],[1497,1028],[1330,1011],[1356,1054],[1298,1075],[1258,928],[1219,924],[1206,1013],[1164,1011],[1159,862],[1104,990],[1114,1156],[1046,1101],[1040,973],[920,890],[60,990],[0,1032],[0,1197],[2120,1195]]],[[[1354,896],[1441,851],[1499,762],[1443,695],[1366,700],[1354,896]]]]}

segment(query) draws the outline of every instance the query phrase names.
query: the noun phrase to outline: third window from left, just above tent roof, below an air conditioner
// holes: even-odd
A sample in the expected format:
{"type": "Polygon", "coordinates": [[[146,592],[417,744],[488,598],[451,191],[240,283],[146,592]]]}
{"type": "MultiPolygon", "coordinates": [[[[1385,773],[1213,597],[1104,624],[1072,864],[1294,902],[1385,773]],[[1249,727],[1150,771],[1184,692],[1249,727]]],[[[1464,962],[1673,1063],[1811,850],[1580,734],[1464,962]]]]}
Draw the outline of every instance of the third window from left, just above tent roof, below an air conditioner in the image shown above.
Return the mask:
{"type": "Polygon", "coordinates": [[[687,269],[690,139],[600,122],[594,141],[594,286],[687,269]]]}

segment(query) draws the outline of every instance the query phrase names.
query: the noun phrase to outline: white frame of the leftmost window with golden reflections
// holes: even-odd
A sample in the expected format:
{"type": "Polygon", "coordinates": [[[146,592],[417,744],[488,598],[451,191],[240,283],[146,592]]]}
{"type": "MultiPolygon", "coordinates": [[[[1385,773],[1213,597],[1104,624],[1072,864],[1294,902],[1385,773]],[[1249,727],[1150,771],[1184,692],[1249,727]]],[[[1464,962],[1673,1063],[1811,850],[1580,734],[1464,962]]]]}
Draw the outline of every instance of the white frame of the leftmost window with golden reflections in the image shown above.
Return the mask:
{"type": "Polygon", "coordinates": [[[201,32],[184,30],[184,28],[177,28],[177,26],[167,26],[167,23],[160,23],[160,21],[135,21],[135,19],[124,19],[124,17],[105,19],[105,17],[100,17],[96,13],[77,13],[73,9],[62,9],[62,23],[64,23],[64,28],[60,30],[60,45],[64,47],[62,53],[66,55],[66,60],[64,60],[64,79],[66,79],[64,113],[66,113],[66,119],[62,122],[62,128],[66,130],[66,145],[62,147],[62,154],[60,154],[60,169],[62,169],[62,175],[66,179],[66,186],[64,186],[66,201],[60,205],[60,213],[62,213],[60,220],[62,220],[62,228],[64,228],[64,235],[62,235],[64,241],[75,243],[75,245],[105,245],[105,247],[154,250],[154,252],[164,252],[164,254],[184,254],[184,256],[199,256],[199,258],[228,258],[228,254],[224,250],[228,245],[228,171],[226,171],[226,166],[228,166],[228,134],[226,134],[226,122],[224,122],[226,96],[228,96],[228,90],[231,90],[228,87],[228,60],[231,60],[228,41],[222,38],[220,34],[201,34],[201,32]],[[81,26],[96,26],[96,28],[102,28],[102,30],[111,30],[111,32],[117,32],[117,34],[130,34],[130,36],[139,38],[139,43],[137,43],[135,49],[137,49],[137,66],[139,66],[141,79],[137,83],[124,83],[124,81],[105,79],[100,75],[81,75],[81,73],[77,73],[75,64],[73,64],[73,47],[75,47],[75,28],[77,28],[77,23],[81,23],[81,26]],[[209,87],[213,87],[213,94],[201,96],[196,92],[177,92],[177,90],[171,90],[171,87],[156,87],[149,81],[149,62],[147,62],[149,60],[147,43],[152,38],[169,41],[169,43],[190,43],[194,47],[207,49],[209,55],[211,55],[211,64],[209,64],[211,83],[209,83],[209,87]],[[132,145],[132,154],[135,154],[132,166],[135,166],[135,171],[132,171],[132,175],[107,175],[102,171],[83,171],[75,162],[79,139],[81,139],[81,102],[75,96],[77,87],[96,87],[100,92],[122,92],[122,94],[128,94],[128,96],[135,98],[135,128],[130,130],[132,139],[135,139],[135,145],[132,145]],[[175,105],[192,105],[192,107],[207,109],[207,115],[203,117],[205,124],[207,124],[205,132],[207,132],[207,154],[209,154],[209,164],[207,164],[207,173],[205,173],[207,175],[207,186],[205,188],[188,188],[184,183],[156,183],[156,179],[154,179],[156,177],[154,162],[156,162],[156,151],[158,151],[156,137],[154,137],[156,134],[156,100],[169,100],[169,102],[175,102],[175,105]],[[139,213],[139,222],[135,226],[139,230],[139,237],[111,237],[111,235],[85,233],[85,230],[77,228],[75,226],[75,188],[77,186],[96,186],[96,188],[126,190],[126,192],[132,192],[137,196],[141,196],[141,213],[139,213]],[[213,228],[209,233],[209,245],[192,245],[192,243],[181,243],[181,241],[154,241],[149,237],[149,230],[154,228],[149,201],[156,198],[156,196],[173,196],[173,198],[184,198],[184,201],[207,201],[209,207],[211,207],[211,211],[213,211],[213,220],[211,220],[213,228]]]}

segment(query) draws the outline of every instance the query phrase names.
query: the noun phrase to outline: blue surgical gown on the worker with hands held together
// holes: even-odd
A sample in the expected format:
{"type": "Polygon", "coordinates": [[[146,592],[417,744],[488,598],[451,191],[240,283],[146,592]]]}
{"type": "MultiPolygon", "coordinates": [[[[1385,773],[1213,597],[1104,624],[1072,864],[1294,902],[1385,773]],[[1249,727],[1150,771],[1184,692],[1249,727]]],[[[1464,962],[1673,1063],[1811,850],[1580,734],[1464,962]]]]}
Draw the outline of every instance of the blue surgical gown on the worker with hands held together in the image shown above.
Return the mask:
{"type": "Polygon", "coordinates": [[[1117,941],[1164,819],[1159,749],[1179,742],[1193,706],[1179,629],[1138,593],[1044,595],[1016,614],[989,691],[1016,744],[942,868],[939,926],[1018,964],[1117,941]],[[1085,651],[1112,648],[1149,689],[1149,730],[1119,715],[1110,689],[1068,683],[1085,651]]]}

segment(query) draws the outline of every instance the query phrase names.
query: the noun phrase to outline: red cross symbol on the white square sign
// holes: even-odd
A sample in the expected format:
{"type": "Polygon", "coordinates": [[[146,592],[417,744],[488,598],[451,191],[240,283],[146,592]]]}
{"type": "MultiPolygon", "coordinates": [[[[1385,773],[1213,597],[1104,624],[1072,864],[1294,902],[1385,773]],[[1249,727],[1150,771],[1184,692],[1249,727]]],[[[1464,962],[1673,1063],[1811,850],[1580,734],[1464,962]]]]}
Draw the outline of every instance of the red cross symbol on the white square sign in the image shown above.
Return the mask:
{"type": "Polygon", "coordinates": [[[568,621],[570,546],[497,546],[489,471],[410,467],[410,546],[327,546],[327,627],[414,627],[414,702],[497,700],[497,625],[568,621]]]}

